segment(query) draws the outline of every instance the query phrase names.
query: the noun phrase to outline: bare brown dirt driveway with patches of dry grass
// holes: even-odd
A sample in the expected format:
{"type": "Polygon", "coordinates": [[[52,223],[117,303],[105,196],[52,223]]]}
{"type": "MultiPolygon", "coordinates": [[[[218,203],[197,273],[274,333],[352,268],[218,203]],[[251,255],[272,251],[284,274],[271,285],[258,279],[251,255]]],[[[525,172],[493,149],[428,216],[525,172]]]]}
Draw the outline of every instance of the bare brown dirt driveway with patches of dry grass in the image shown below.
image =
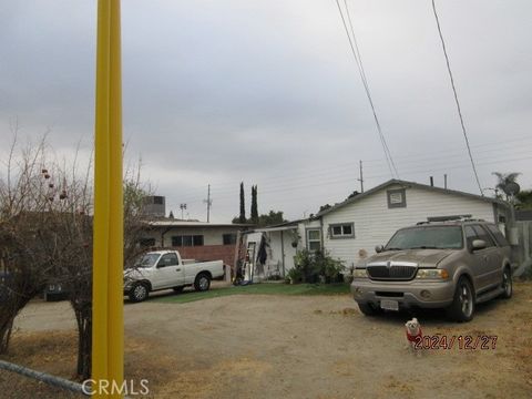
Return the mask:
{"type": "MultiPolygon", "coordinates": [[[[75,364],[69,311],[64,303],[32,304],[18,320],[10,360],[69,377],[75,364]],[[35,354],[39,346],[45,355],[35,354]],[[68,354],[59,354],[64,346],[68,354]]],[[[424,335],[497,336],[495,348],[456,342],[413,356],[403,329],[409,315],[364,317],[347,295],[147,301],[125,306],[126,377],[150,379],[154,398],[532,396],[532,284],[516,284],[509,301],[480,306],[469,324],[448,323],[438,311],[418,317],[424,335]]],[[[0,391],[12,385],[0,371],[0,391]]]]}

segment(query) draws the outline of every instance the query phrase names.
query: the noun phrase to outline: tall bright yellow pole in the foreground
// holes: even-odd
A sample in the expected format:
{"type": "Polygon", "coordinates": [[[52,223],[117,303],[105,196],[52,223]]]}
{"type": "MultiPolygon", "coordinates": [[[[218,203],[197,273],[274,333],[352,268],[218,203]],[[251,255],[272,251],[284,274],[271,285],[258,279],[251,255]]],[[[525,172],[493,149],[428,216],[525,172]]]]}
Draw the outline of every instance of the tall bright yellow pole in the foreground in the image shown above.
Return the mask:
{"type": "Polygon", "coordinates": [[[94,160],[92,379],[95,398],[123,382],[123,194],[120,0],[99,0],[94,160]],[[105,386],[105,391],[99,387],[105,386]]]}

